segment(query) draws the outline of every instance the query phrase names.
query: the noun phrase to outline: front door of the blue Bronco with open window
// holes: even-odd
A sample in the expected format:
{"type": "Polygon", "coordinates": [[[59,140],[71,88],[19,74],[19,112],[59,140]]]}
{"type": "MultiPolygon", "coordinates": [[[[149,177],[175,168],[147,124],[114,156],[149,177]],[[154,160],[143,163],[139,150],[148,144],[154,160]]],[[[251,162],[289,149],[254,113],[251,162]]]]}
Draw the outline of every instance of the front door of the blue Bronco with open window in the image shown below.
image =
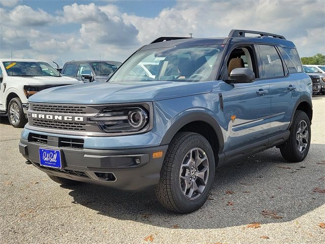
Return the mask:
{"type": "MultiPolygon", "coordinates": [[[[219,82],[225,123],[228,127],[225,150],[266,139],[270,126],[270,86],[260,78],[262,72],[254,46],[236,46],[226,59],[228,69],[232,58],[241,58],[244,67],[255,73],[255,80],[252,83],[236,84],[226,79],[219,82]]],[[[228,76],[229,73],[228,70],[228,76]]]]}

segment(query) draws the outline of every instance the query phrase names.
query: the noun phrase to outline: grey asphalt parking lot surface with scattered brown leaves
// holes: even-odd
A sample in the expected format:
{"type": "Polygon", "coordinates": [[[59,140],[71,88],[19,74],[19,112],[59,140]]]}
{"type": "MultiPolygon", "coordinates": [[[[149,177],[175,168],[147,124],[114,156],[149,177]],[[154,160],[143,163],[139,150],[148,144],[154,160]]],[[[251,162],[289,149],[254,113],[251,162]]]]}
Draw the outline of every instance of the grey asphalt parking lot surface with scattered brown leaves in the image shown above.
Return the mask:
{"type": "Polygon", "coordinates": [[[207,203],[173,214],[154,192],[62,187],[19,154],[21,129],[0,117],[1,243],[324,243],[325,98],[313,98],[309,155],[271,148],[219,168],[207,203]],[[252,224],[252,225],[250,225],[252,224]]]}

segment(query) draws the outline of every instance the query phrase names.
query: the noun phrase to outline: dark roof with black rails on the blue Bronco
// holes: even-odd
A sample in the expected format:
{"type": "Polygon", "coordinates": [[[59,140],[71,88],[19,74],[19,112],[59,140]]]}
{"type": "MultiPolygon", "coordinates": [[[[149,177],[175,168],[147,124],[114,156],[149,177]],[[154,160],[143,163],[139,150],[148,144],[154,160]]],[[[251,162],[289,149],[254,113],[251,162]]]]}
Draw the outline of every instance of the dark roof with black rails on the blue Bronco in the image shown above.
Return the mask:
{"type": "Polygon", "coordinates": [[[229,37],[223,38],[184,38],[184,37],[160,37],[152,41],[150,44],[145,45],[141,50],[163,48],[163,47],[176,47],[176,46],[198,46],[198,45],[221,45],[236,42],[253,42],[253,43],[265,43],[265,44],[276,44],[287,48],[296,48],[295,44],[291,41],[286,40],[283,36],[256,32],[256,31],[245,31],[239,29],[233,29],[229,37]],[[256,34],[258,37],[246,37],[245,34],[256,34]]]}

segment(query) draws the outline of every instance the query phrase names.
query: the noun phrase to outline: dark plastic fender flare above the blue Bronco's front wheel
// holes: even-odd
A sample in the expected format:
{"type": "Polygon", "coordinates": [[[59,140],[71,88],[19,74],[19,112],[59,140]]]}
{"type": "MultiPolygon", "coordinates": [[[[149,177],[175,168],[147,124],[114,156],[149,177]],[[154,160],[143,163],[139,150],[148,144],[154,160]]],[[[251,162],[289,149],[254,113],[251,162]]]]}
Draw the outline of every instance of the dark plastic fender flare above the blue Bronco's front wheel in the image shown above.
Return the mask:
{"type": "Polygon", "coordinates": [[[206,112],[190,112],[182,117],[180,117],[179,119],[177,119],[172,125],[171,127],[168,129],[168,131],[166,132],[165,136],[163,137],[163,140],[161,140],[160,145],[166,145],[169,144],[171,142],[171,140],[173,139],[173,137],[175,136],[175,134],[185,125],[194,122],[194,121],[202,121],[204,123],[207,123],[208,125],[210,125],[215,134],[217,135],[217,140],[219,143],[219,154],[222,153],[223,151],[223,147],[224,147],[224,140],[223,140],[223,134],[221,131],[221,128],[219,126],[219,124],[217,123],[217,121],[208,113],[206,112]]]}

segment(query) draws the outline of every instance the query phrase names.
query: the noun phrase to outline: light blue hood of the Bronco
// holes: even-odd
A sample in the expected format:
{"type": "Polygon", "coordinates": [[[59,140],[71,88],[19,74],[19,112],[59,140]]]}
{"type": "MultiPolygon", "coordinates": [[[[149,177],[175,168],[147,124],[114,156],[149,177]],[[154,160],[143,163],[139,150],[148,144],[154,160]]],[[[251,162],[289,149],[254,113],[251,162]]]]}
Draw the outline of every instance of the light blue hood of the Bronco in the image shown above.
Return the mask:
{"type": "Polygon", "coordinates": [[[121,82],[84,83],[42,90],[29,98],[36,103],[114,104],[152,102],[164,99],[210,93],[212,81],[207,82],[121,82]]]}

